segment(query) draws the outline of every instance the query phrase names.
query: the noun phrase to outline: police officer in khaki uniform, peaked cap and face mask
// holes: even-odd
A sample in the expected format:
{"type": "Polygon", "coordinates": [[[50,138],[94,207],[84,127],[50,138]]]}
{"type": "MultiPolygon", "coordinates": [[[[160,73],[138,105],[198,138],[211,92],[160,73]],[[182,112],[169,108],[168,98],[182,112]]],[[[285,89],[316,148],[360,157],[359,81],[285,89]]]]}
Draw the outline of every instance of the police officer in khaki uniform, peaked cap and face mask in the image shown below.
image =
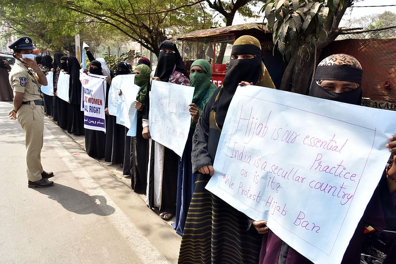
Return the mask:
{"type": "Polygon", "coordinates": [[[22,37],[8,47],[14,50],[15,58],[15,64],[9,73],[9,82],[15,93],[14,108],[8,115],[10,119],[17,119],[25,132],[28,187],[49,187],[53,185],[53,181],[48,178],[53,173],[45,172],[41,166],[44,101],[40,85],[47,85],[47,78],[34,60],[35,47],[32,39],[22,37]]]}

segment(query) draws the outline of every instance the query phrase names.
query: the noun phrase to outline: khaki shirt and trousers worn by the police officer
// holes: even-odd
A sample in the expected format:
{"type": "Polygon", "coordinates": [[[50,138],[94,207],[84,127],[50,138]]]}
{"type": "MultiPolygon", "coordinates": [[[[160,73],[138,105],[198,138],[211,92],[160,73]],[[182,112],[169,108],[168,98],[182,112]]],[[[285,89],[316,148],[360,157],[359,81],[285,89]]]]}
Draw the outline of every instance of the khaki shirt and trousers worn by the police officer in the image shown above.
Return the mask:
{"type": "Polygon", "coordinates": [[[31,70],[19,60],[9,73],[9,82],[15,92],[23,92],[22,105],[16,118],[25,131],[26,173],[30,181],[42,178],[41,149],[44,136],[44,106],[40,85],[31,70]]]}

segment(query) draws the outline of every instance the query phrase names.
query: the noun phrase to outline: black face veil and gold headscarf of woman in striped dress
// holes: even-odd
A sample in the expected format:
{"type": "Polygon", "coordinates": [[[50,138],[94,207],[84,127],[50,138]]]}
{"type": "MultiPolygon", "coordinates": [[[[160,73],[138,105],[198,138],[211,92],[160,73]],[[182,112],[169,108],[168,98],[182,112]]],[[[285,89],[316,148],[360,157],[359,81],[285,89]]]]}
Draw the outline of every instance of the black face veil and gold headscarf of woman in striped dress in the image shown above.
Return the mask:
{"type": "Polygon", "coordinates": [[[250,54],[255,55],[252,59],[230,59],[230,66],[224,77],[223,87],[213,104],[212,109],[216,113],[216,123],[219,128],[223,127],[232,97],[242,81],[256,84],[261,76],[261,48],[260,43],[251,36],[242,36],[235,41],[231,55],[250,54]]]}

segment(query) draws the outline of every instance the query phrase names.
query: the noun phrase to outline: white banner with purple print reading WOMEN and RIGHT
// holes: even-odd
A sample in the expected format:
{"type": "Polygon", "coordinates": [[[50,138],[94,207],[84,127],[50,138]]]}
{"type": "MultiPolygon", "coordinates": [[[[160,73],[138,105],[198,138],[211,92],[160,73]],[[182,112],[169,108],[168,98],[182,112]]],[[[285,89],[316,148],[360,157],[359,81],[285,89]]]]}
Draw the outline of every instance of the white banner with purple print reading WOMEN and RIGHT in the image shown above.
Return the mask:
{"type": "Polygon", "coordinates": [[[84,128],[106,132],[104,104],[106,96],[105,76],[80,72],[83,86],[81,108],[84,109],[84,128]]]}

